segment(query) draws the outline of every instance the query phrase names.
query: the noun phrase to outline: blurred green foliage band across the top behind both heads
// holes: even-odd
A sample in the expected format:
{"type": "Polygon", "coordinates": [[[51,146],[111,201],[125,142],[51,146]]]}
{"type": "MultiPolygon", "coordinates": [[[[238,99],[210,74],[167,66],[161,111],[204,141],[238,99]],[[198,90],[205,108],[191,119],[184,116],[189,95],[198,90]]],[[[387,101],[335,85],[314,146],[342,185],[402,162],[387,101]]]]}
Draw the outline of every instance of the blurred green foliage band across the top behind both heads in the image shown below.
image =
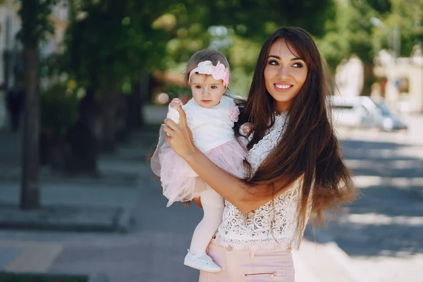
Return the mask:
{"type": "Polygon", "coordinates": [[[228,57],[235,92],[245,93],[262,42],[282,25],[312,33],[332,69],[352,54],[372,63],[388,47],[388,30],[372,26],[372,17],[401,27],[404,56],[423,37],[420,0],[69,1],[69,69],[82,85],[113,78],[118,89],[140,70],[173,69],[212,47],[228,57]],[[230,44],[214,46],[216,25],[227,31],[217,39],[230,44]]]}

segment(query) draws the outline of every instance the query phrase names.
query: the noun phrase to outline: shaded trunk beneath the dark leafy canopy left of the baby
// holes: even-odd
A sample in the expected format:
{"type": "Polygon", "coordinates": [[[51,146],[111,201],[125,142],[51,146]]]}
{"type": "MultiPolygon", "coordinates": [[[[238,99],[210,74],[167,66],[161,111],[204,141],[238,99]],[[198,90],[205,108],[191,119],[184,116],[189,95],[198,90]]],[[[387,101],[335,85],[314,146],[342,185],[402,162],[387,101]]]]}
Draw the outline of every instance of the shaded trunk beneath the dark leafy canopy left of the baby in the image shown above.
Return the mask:
{"type": "Polygon", "coordinates": [[[101,147],[104,152],[116,151],[117,105],[119,94],[114,82],[104,83],[99,88],[100,111],[102,117],[101,147]]]}

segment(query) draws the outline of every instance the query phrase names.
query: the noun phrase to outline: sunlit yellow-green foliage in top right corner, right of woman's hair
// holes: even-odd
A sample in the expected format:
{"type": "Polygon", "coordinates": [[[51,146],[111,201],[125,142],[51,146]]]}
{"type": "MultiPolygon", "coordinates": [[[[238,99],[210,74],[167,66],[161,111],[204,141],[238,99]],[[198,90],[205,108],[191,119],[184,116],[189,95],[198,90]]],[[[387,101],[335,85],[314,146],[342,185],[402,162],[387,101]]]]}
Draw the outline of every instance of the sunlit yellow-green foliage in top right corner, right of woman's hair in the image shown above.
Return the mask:
{"type": "Polygon", "coordinates": [[[423,42],[421,0],[335,0],[334,17],[326,22],[326,34],[317,38],[319,49],[333,70],[352,54],[371,64],[383,48],[390,49],[392,30],[401,30],[401,55],[410,56],[412,47],[423,42]],[[371,18],[383,25],[375,27],[371,18]]]}

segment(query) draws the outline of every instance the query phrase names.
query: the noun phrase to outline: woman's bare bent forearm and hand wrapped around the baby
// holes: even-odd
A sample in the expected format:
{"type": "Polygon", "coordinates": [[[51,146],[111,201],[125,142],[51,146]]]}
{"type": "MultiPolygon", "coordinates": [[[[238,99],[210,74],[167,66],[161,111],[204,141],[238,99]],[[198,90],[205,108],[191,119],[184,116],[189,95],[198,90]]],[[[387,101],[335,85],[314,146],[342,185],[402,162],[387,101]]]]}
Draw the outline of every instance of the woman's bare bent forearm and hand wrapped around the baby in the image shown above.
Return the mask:
{"type": "MultiPolygon", "coordinates": [[[[164,132],[168,134],[166,141],[172,149],[204,180],[210,187],[224,199],[231,202],[241,212],[250,212],[271,200],[271,196],[257,197],[247,191],[247,184],[232,176],[230,173],[216,166],[209,160],[192,141],[192,133],[186,122],[185,111],[178,106],[180,114],[179,124],[166,118],[167,125],[164,132]]],[[[277,197],[278,195],[275,195],[277,197]]]]}

